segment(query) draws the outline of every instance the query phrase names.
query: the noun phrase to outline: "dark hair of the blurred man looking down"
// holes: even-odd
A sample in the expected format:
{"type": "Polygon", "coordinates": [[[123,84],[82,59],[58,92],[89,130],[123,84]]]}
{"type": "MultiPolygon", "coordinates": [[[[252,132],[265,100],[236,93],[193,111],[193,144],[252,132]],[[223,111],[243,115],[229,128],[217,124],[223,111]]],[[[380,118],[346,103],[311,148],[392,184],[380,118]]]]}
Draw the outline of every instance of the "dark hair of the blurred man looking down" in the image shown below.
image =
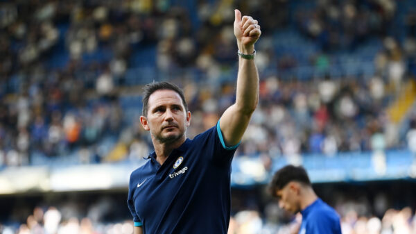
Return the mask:
{"type": "Polygon", "coordinates": [[[268,186],[268,190],[272,196],[276,195],[276,191],[281,190],[284,188],[289,182],[297,181],[304,185],[311,186],[311,181],[309,180],[309,176],[306,173],[304,167],[287,165],[279,169],[270,181],[268,186]]]}

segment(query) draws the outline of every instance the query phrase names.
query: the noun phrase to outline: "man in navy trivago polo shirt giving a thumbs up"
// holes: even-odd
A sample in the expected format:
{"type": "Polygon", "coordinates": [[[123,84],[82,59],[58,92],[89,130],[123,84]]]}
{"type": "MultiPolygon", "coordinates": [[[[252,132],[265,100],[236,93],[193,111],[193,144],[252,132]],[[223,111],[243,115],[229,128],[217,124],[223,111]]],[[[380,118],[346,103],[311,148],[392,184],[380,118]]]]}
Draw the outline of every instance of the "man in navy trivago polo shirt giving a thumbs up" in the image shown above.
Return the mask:
{"type": "Polygon", "coordinates": [[[234,35],[240,57],[236,103],[193,140],[185,136],[191,112],[182,90],[167,82],[144,88],[140,122],[150,131],[155,152],[130,176],[135,234],[227,233],[231,161],[259,96],[254,43],[260,26],[235,10],[234,35]]]}

